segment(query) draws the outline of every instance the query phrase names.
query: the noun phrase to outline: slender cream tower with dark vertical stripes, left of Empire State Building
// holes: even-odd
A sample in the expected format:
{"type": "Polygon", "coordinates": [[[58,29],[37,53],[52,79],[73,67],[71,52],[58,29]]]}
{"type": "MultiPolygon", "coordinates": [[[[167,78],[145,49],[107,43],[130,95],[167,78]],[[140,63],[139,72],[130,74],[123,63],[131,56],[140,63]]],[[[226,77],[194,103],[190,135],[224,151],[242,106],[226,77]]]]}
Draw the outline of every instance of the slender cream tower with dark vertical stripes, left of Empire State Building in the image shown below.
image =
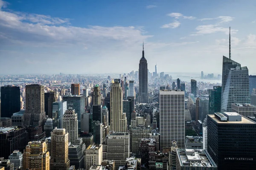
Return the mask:
{"type": "Polygon", "coordinates": [[[122,104],[122,89],[120,86],[120,80],[115,79],[111,85],[110,92],[110,130],[114,132],[126,132],[127,119],[125,113],[123,113],[122,104]]]}

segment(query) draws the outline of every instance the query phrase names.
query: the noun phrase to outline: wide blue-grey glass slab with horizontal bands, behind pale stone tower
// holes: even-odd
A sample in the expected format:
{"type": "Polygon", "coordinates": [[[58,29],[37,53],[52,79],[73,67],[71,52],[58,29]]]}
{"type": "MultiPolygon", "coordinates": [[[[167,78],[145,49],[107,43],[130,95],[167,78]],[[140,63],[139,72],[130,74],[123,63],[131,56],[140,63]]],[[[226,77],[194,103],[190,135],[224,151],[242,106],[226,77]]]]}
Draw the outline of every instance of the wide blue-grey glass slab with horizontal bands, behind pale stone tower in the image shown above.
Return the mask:
{"type": "Polygon", "coordinates": [[[66,95],[63,101],[67,102],[67,108],[73,108],[76,111],[78,119],[78,131],[81,131],[81,114],[85,113],[85,96],[84,95],[66,95]]]}

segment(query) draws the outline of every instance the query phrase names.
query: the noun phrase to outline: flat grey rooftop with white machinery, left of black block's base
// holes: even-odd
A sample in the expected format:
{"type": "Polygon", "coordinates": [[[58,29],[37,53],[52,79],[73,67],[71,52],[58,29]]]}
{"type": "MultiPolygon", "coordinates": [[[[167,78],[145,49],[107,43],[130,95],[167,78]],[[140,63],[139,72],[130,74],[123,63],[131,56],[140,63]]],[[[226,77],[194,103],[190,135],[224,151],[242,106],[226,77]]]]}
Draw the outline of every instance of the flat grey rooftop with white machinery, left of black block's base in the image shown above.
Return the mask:
{"type": "Polygon", "coordinates": [[[183,167],[217,167],[207,150],[177,149],[177,158],[183,167]]]}

